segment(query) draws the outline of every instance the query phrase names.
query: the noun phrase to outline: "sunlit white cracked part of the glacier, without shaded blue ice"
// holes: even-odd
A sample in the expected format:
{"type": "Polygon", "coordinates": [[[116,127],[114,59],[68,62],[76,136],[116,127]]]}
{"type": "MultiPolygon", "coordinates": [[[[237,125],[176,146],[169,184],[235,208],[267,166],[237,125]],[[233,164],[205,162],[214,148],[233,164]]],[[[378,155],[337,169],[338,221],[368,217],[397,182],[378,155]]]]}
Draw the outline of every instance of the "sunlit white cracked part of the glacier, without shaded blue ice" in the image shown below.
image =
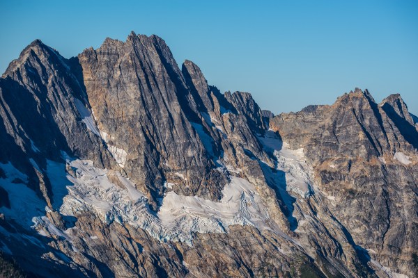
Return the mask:
{"type": "MultiPolygon", "coordinates": [[[[75,174],[67,175],[73,185],[67,186],[68,195],[63,197],[63,205],[59,208],[63,215],[77,218],[83,211],[93,211],[107,224],[131,224],[145,229],[158,240],[180,240],[189,245],[196,232],[224,233],[233,224],[268,229],[265,224],[269,218],[267,209],[254,186],[245,179],[231,177],[231,182],[222,190],[221,202],[180,196],[171,191],[164,196],[160,211],[155,214],[150,211],[145,195],[120,173],[94,167],[91,161],[68,161],[68,166],[75,174]]],[[[173,183],[166,182],[164,186],[170,188],[173,183]]],[[[47,219],[36,220],[42,220],[49,232],[66,236],[50,227],[47,219]]]]}

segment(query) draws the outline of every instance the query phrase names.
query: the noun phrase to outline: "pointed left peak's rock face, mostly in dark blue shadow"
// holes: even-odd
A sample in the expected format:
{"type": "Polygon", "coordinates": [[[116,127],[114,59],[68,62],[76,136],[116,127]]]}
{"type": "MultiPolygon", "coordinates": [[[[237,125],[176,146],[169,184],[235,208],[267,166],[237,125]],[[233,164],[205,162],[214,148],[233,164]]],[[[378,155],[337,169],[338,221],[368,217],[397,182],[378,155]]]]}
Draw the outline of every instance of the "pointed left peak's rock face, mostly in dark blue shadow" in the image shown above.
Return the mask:
{"type": "Polygon", "coordinates": [[[65,151],[111,167],[109,152],[89,128],[82,86],[68,61],[40,40],[10,63],[0,79],[0,101],[0,161],[29,173],[28,186],[42,193],[49,206],[45,158],[60,161],[65,151]]]}

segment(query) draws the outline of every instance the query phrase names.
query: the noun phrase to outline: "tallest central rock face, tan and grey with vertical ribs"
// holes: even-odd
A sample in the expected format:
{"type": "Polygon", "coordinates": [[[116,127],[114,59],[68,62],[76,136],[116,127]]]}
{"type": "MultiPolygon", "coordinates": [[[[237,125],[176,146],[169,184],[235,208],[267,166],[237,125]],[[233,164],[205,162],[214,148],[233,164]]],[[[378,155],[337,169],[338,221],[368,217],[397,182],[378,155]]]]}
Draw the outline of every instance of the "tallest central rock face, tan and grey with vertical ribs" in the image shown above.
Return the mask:
{"type": "Polygon", "coordinates": [[[139,188],[161,197],[167,181],[178,193],[220,199],[226,179],[213,170],[216,149],[162,39],[107,39],[80,54],[79,63],[102,138],[121,153],[121,167],[139,188]]]}

